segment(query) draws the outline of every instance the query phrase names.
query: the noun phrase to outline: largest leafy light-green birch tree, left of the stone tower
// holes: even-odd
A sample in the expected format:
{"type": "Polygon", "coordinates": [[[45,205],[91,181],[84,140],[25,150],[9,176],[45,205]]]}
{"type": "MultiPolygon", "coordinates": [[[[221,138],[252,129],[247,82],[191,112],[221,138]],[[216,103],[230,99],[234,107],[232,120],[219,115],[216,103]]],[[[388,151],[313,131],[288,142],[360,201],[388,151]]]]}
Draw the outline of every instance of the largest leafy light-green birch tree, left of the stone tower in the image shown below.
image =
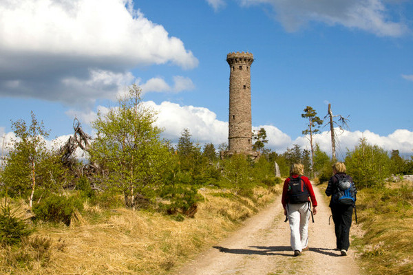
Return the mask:
{"type": "Polygon", "coordinates": [[[98,134],[89,151],[91,161],[102,168],[96,176],[103,188],[124,195],[131,208],[136,195],[153,197],[171,156],[160,139],[162,130],[154,125],[156,113],[142,105],[140,91],[133,85],[117,108],[98,113],[92,122],[98,134]]]}

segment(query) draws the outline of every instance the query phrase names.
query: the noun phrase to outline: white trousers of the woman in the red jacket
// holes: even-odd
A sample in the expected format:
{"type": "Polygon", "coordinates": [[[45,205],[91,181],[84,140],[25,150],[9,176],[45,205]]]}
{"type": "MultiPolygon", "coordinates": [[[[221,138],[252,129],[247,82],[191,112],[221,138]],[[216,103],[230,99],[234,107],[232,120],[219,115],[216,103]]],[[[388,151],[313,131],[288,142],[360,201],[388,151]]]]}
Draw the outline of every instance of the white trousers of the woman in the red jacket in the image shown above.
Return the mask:
{"type": "Polygon", "coordinates": [[[303,250],[308,245],[308,221],[310,220],[309,203],[290,204],[287,206],[288,221],[290,221],[291,248],[303,250]]]}

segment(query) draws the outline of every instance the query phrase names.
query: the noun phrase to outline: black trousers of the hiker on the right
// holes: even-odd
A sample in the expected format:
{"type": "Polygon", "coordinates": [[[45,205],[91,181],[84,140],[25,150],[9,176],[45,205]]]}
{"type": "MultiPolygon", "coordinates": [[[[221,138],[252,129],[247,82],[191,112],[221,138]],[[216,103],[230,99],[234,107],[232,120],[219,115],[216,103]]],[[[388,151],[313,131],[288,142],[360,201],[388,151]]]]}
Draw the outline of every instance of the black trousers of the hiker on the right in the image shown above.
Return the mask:
{"type": "Polygon", "coordinates": [[[350,226],[352,221],[352,206],[332,205],[331,214],[337,241],[337,249],[348,250],[350,246],[350,226]]]}

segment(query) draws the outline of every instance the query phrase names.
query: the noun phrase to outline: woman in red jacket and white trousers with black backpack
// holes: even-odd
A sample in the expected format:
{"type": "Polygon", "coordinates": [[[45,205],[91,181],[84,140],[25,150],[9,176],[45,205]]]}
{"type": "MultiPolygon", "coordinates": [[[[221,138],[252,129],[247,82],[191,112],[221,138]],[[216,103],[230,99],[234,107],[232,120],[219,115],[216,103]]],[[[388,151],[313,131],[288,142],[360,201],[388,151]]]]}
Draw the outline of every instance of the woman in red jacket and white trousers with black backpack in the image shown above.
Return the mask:
{"type": "Polygon", "coordinates": [[[290,177],[284,181],[282,190],[282,206],[284,214],[290,221],[290,243],[294,256],[299,256],[301,251],[308,250],[308,221],[311,203],[313,203],[313,213],[317,213],[317,200],[313,186],[308,177],[304,177],[303,174],[303,164],[291,166],[290,177]]]}

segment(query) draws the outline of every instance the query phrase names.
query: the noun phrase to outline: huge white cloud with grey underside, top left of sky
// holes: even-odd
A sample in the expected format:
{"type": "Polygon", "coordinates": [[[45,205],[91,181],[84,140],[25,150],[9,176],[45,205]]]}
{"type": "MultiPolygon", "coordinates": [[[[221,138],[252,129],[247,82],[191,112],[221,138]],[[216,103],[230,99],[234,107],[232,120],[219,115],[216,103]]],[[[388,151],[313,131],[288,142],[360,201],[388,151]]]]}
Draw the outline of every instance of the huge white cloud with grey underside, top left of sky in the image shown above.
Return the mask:
{"type": "Polygon", "coordinates": [[[90,104],[130,85],[131,68],[198,65],[130,0],[0,1],[0,26],[2,96],[90,104]]]}

